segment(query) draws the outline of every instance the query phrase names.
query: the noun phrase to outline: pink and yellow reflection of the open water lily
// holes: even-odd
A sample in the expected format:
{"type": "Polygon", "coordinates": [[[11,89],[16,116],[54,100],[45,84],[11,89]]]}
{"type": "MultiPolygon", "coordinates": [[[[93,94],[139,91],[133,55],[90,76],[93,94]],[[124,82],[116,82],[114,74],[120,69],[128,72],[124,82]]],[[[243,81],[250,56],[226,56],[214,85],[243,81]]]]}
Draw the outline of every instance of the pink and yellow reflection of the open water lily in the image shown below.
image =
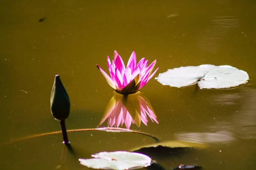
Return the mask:
{"type": "Polygon", "coordinates": [[[102,125],[108,118],[109,127],[119,127],[119,125],[125,124],[126,128],[129,129],[131,123],[138,127],[140,127],[141,122],[147,125],[148,117],[152,122],[158,123],[150,102],[140,92],[124,96],[114,92],[99,125],[102,125]]]}

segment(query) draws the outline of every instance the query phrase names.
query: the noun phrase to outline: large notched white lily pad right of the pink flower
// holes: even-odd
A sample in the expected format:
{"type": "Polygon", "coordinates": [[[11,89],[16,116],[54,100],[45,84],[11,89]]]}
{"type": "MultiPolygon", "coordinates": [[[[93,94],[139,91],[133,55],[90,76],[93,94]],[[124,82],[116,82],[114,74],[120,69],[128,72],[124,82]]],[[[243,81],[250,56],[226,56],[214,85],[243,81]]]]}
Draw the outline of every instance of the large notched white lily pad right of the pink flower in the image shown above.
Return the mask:
{"type": "Polygon", "coordinates": [[[198,83],[199,88],[230,88],[249,79],[245,71],[230,65],[199,65],[169,69],[156,77],[158,82],[171,87],[185,87],[198,83]]]}

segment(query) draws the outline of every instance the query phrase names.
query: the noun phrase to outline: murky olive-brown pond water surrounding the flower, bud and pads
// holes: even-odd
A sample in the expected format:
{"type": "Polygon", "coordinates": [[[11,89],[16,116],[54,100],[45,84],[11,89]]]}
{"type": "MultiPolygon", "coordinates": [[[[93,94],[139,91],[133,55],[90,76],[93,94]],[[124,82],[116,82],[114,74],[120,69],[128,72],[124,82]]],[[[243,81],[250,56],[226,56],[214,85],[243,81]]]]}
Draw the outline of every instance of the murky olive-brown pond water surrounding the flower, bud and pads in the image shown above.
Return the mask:
{"type": "MultiPolygon", "coordinates": [[[[171,88],[152,78],[141,90],[157,122],[130,129],[161,141],[200,143],[204,149],[147,152],[166,170],[198,164],[204,170],[256,166],[256,1],[254,0],[2,0],[0,3],[0,169],[85,170],[79,158],[132,150],[154,139],[137,133],[68,133],[62,144],[49,108],[55,74],[70,96],[67,129],[101,122],[113,89],[96,68],[107,56],[124,62],[157,59],[156,75],[188,65],[232,65],[247,71],[246,85],[225,90],[171,88]]],[[[102,123],[100,125],[100,123],[102,123]]],[[[100,126],[99,126],[100,125],[100,126]]],[[[121,126],[119,126],[121,127],[121,126]]],[[[125,128],[125,125],[122,126],[125,128]]]]}

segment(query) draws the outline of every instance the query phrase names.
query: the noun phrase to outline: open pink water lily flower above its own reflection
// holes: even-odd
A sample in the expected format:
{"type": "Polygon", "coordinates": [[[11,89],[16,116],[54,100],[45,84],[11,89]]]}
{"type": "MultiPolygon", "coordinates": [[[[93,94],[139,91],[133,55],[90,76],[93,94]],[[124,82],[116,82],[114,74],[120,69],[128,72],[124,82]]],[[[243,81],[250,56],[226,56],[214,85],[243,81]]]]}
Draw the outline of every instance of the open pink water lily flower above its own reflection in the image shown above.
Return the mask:
{"type": "Polygon", "coordinates": [[[158,70],[157,68],[154,73],[152,73],[157,60],[154,60],[149,66],[148,60],[145,60],[145,58],[142,58],[137,63],[135,52],[132,52],[126,67],[122,58],[116,51],[114,51],[114,59],[112,62],[109,56],[107,62],[110,77],[99,65],[97,65],[97,67],[102,72],[108,84],[119,94],[134,94],[140,91],[158,70]]]}

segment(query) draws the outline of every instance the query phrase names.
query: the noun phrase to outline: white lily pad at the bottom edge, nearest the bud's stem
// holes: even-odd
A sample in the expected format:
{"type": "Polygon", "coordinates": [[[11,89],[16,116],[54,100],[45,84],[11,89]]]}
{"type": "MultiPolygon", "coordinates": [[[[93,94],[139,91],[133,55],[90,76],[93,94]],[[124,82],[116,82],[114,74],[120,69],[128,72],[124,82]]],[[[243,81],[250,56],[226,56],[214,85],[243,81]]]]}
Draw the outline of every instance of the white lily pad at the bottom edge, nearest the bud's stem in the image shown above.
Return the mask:
{"type": "Polygon", "coordinates": [[[141,153],[116,151],[100,152],[93,159],[79,159],[84,166],[104,170],[134,170],[151,165],[151,158],[141,153]]]}

